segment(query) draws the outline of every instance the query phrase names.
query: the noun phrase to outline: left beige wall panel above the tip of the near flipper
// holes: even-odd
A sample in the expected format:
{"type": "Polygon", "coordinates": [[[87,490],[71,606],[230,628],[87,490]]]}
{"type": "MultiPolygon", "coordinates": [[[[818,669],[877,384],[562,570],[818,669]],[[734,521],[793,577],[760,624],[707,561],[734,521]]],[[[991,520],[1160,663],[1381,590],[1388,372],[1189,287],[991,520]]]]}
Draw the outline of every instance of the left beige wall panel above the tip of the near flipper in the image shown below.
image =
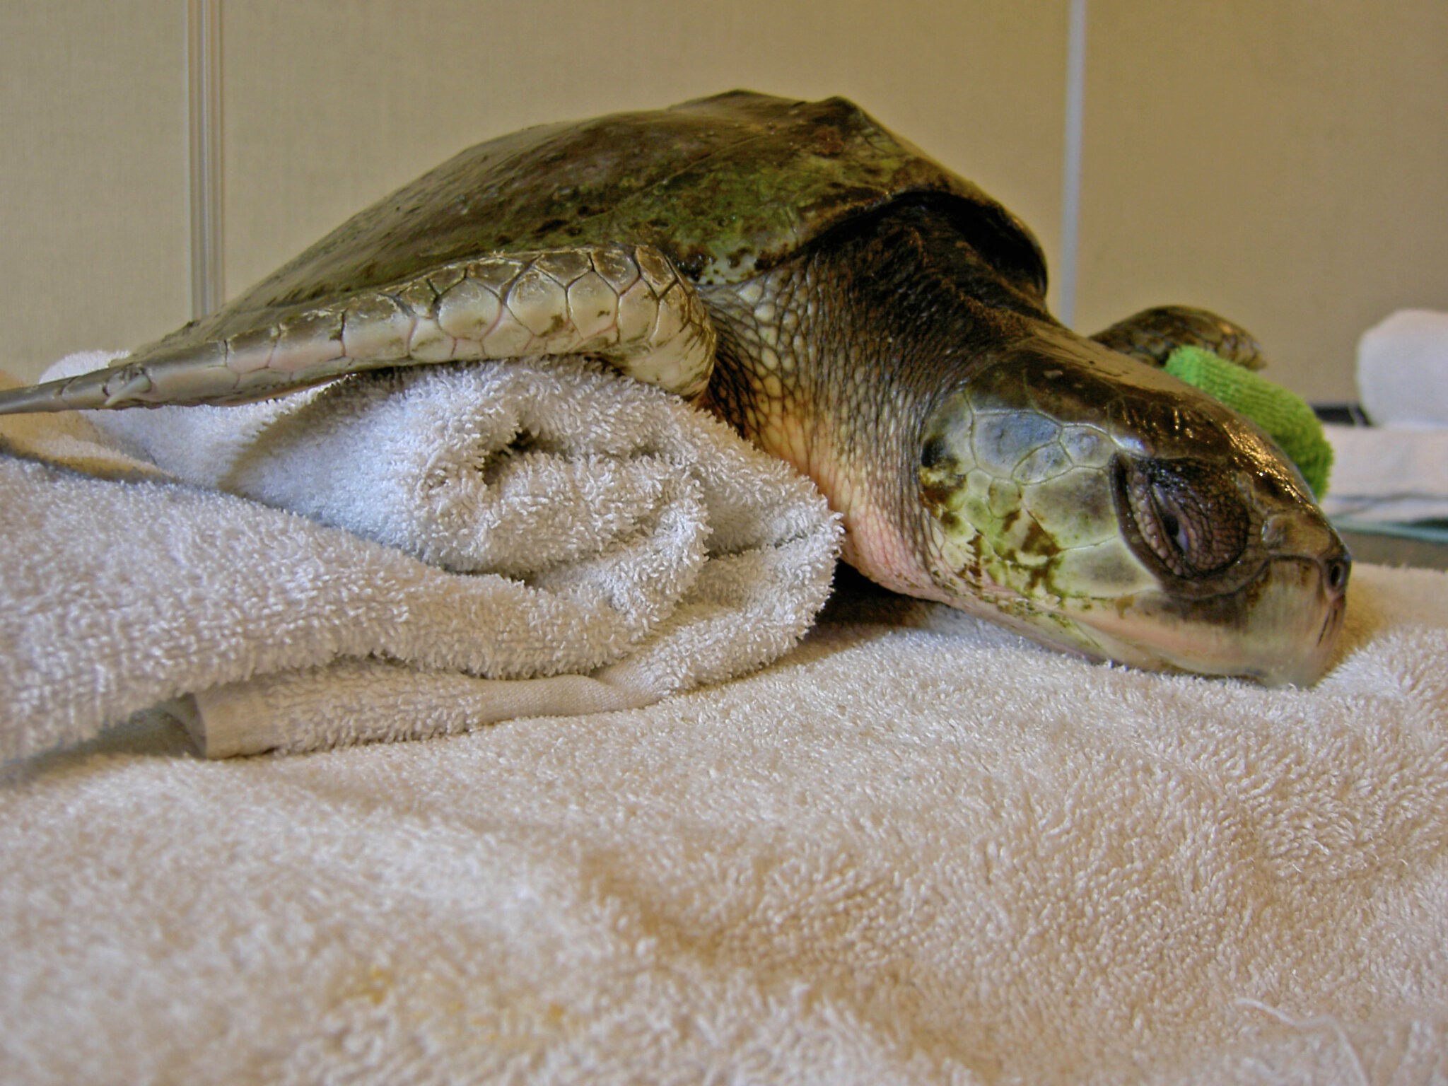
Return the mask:
{"type": "Polygon", "coordinates": [[[182,12],[0,0],[0,368],[190,314],[182,12]]]}

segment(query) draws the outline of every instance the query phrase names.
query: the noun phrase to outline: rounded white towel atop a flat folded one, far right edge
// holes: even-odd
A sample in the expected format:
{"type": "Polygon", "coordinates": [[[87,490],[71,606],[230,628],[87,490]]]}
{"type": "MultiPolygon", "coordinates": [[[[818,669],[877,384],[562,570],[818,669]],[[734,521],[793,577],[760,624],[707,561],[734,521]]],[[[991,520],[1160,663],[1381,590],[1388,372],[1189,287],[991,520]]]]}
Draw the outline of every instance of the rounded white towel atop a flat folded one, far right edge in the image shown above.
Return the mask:
{"type": "Polygon", "coordinates": [[[1448,426],[1448,313],[1399,310],[1364,332],[1357,381],[1377,426],[1448,426]]]}

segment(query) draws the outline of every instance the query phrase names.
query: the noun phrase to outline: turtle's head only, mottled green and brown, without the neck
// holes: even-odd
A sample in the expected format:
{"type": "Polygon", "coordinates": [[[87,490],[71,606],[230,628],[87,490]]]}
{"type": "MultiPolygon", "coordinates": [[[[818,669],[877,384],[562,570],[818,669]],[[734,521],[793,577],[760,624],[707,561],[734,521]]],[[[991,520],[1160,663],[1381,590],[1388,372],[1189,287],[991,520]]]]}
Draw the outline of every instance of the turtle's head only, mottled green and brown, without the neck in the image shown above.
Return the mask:
{"type": "Polygon", "coordinates": [[[1350,557],[1254,424],[1040,324],[941,390],[919,443],[930,594],[1153,669],[1313,682],[1350,557]]]}

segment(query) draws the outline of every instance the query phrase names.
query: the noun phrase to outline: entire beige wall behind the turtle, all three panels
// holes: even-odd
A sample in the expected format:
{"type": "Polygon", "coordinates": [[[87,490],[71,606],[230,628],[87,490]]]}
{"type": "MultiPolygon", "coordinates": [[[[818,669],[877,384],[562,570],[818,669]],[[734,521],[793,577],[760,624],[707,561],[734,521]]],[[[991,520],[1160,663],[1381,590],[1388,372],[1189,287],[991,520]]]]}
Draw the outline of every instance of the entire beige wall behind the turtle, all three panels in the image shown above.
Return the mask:
{"type": "MultiPolygon", "coordinates": [[[[1066,0],[223,7],[229,292],[466,143],[736,85],[856,98],[1058,251],[1066,0]]],[[[1279,379],[1350,397],[1365,324],[1448,308],[1445,23],[1090,0],[1077,324],[1215,306],[1279,379]]],[[[0,365],[185,320],[184,48],[181,3],[0,0],[0,365]]]]}

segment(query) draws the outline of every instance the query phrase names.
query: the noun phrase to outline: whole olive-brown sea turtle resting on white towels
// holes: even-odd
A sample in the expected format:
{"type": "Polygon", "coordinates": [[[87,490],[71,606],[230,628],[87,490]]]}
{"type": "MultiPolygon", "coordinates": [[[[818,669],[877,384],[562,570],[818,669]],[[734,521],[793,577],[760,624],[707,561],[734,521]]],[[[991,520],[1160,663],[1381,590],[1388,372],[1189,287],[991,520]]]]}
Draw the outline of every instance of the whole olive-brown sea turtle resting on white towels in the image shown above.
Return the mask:
{"type": "Polygon", "coordinates": [[[0,411],[237,403],[362,369],[588,353],[809,475],[886,588],[1048,644],[1308,683],[1350,559],[1254,424],[1164,374],[1200,310],[1092,339],[1031,232],[843,100],[736,91],[481,143],[220,311],[0,411]]]}

